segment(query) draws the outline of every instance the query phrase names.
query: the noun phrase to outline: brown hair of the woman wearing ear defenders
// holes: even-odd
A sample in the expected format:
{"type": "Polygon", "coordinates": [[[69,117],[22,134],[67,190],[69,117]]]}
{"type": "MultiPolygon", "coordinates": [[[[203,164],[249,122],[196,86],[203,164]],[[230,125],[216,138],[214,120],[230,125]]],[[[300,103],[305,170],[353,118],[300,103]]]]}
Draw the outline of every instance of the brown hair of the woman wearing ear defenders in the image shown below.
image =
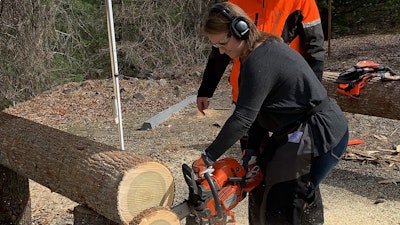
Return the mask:
{"type": "MultiPolygon", "coordinates": [[[[250,54],[250,52],[254,50],[254,47],[257,43],[261,43],[264,41],[282,42],[282,38],[274,34],[258,30],[250,17],[239,6],[230,2],[221,2],[217,4],[228,9],[235,17],[241,17],[249,25],[249,34],[245,39],[247,48],[244,55],[241,56],[242,59],[247,58],[248,54],[250,54]]],[[[231,23],[231,19],[224,15],[224,13],[217,10],[210,10],[208,16],[204,21],[203,32],[205,34],[232,33],[231,23]]]]}

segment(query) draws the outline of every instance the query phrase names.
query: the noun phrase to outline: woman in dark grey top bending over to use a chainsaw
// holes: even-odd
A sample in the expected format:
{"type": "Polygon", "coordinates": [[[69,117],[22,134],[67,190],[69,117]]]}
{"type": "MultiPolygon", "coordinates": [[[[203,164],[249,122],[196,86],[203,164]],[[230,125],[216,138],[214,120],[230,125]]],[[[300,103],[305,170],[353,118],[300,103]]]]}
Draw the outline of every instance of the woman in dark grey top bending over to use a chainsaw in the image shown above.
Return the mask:
{"type": "MultiPolygon", "coordinates": [[[[304,224],[304,208],[320,198],[313,195],[314,184],[346,150],[344,114],[305,59],[280,37],[257,30],[237,5],[215,4],[204,32],[221,54],[240,58],[241,83],[234,112],[193,170],[202,176],[248,132],[247,147],[259,150],[264,174],[260,201],[249,205],[250,224],[304,224]],[[318,165],[321,158],[335,157],[318,165]]],[[[322,224],[321,216],[314,222],[322,224]]]]}

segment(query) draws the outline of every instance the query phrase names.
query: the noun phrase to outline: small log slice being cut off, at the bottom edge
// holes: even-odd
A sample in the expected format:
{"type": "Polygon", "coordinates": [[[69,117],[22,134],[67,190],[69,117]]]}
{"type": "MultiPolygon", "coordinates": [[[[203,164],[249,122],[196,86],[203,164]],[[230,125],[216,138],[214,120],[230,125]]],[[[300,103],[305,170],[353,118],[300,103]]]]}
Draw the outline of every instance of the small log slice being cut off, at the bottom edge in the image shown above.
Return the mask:
{"type": "Polygon", "coordinates": [[[179,217],[165,207],[152,207],[137,215],[129,225],[180,225],[179,217]]]}

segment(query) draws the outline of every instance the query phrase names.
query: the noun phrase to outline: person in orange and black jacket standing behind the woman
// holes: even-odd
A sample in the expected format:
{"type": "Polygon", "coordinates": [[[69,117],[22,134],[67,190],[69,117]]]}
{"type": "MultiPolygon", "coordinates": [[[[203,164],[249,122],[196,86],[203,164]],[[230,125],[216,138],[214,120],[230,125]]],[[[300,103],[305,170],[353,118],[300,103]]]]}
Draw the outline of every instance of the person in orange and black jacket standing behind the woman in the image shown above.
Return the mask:
{"type": "MultiPolygon", "coordinates": [[[[300,53],[322,80],[324,67],[324,34],[319,10],[315,0],[229,0],[241,7],[257,28],[281,36],[285,43],[300,53]]],[[[211,98],[231,59],[212,48],[203,79],[198,89],[197,108],[204,115],[211,98]]],[[[240,83],[240,62],[233,59],[229,82],[232,101],[237,101],[240,83]]]]}

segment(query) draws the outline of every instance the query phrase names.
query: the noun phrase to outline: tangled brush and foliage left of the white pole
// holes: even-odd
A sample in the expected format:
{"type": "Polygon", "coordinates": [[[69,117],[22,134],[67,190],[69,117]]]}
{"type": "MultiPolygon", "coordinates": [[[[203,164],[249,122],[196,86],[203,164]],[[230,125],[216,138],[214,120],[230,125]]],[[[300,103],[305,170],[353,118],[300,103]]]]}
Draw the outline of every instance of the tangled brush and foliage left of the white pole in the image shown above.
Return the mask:
{"type": "Polygon", "coordinates": [[[103,76],[109,65],[98,1],[0,1],[0,98],[24,101],[54,85],[103,76]]]}

